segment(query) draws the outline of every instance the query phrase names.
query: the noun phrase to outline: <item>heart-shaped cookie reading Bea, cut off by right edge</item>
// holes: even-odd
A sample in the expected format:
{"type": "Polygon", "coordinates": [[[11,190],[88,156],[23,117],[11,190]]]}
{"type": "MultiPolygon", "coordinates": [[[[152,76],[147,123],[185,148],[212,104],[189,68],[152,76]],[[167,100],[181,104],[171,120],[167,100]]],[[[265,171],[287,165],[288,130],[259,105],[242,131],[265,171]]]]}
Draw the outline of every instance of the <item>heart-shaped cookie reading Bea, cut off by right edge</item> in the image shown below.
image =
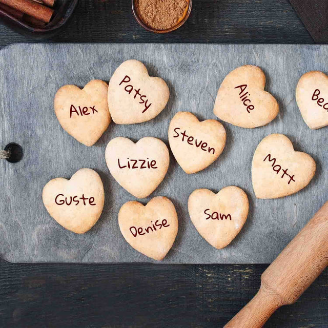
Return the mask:
{"type": "Polygon", "coordinates": [[[328,76],[319,71],[305,73],[296,87],[296,101],[310,129],[328,125],[328,76]]]}

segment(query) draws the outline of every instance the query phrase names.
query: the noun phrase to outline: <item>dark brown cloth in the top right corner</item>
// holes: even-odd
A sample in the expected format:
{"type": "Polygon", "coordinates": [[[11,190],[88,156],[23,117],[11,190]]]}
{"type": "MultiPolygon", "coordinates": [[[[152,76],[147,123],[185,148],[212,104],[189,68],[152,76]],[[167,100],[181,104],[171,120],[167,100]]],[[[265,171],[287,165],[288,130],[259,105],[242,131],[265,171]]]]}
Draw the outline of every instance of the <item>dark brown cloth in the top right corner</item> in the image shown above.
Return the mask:
{"type": "Polygon", "coordinates": [[[290,0],[316,43],[328,43],[328,0],[290,0]]]}

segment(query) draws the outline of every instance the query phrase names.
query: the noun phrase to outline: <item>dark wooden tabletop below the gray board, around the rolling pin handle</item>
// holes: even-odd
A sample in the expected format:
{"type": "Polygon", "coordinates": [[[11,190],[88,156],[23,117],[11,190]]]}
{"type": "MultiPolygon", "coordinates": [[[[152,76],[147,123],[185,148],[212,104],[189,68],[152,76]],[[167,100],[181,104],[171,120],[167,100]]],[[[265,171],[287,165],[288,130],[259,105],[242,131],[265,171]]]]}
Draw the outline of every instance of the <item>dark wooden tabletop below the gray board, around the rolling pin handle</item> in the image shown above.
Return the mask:
{"type": "MultiPolygon", "coordinates": [[[[0,326],[218,328],[259,288],[266,265],[0,262],[0,326]]],[[[328,271],[265,328],[328,328],[328,271]]]]}

